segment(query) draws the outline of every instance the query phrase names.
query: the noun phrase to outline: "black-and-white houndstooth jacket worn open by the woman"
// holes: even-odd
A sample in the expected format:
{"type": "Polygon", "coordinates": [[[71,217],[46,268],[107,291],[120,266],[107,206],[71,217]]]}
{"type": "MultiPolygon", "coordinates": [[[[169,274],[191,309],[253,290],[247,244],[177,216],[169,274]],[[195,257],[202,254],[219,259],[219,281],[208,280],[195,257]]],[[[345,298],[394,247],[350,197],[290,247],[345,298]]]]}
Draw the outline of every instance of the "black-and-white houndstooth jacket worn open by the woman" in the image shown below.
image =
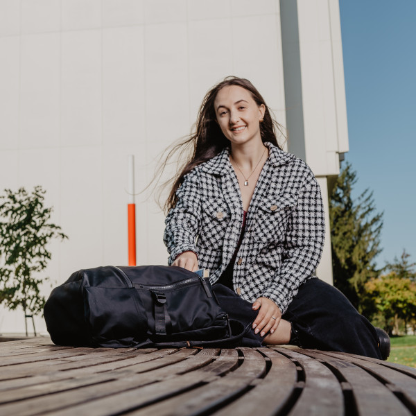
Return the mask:
{"type": "MultiPolygon", "coordinates": [[[[269,157],[250,202],[233,285],[243,299],[268,297],[284,313],[320,261],[324,210],[309,166],[270,143],[266,146],[269,157]]],[[[168,263],[182,252],[196,252],[200,268],[211,271],[214,284],[232,259],[243,223],[228,149],[185,175],[165,223],[168,263]]]]}

